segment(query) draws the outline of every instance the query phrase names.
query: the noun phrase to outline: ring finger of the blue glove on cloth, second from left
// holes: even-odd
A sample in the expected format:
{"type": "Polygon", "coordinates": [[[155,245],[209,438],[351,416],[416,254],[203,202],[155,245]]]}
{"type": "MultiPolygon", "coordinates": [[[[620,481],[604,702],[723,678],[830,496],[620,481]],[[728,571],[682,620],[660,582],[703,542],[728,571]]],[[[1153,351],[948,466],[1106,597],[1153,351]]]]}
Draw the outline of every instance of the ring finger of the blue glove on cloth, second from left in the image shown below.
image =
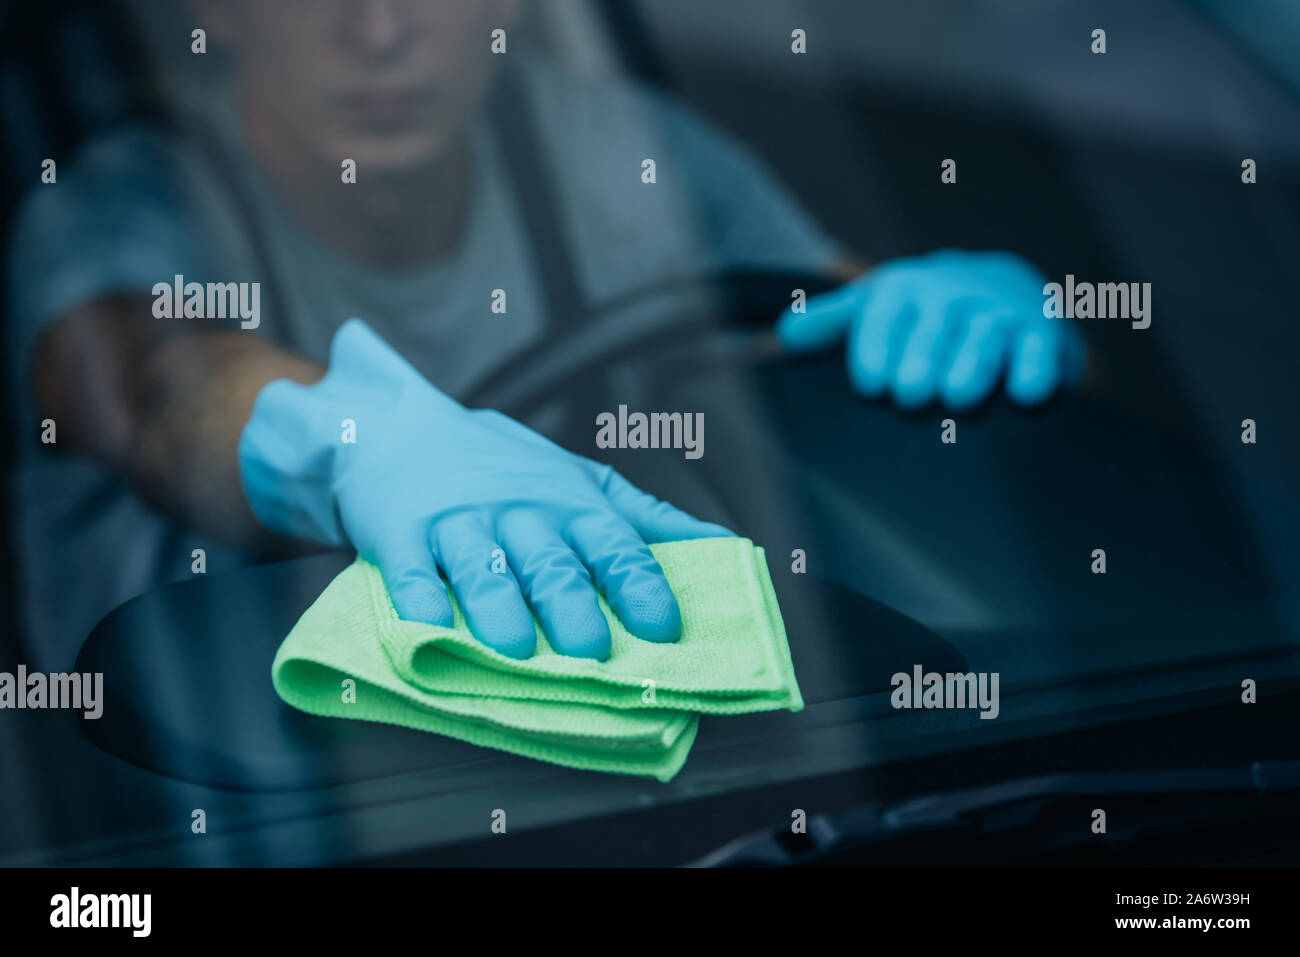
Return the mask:
{"type": "Polygon", "coordinates": [[[469,512],[448,515],[434,525],[433,544],[474,637],[511,658],[532,655],[533,616],[486,523],[469,512]]]}

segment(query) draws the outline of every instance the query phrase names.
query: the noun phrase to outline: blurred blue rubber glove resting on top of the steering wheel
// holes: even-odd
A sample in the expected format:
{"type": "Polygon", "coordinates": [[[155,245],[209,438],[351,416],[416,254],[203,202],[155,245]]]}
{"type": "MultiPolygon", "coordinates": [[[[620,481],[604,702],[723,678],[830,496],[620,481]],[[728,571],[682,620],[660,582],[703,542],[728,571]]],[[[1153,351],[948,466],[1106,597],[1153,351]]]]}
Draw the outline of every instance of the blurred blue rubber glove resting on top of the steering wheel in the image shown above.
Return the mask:
{"type": "Polygon", "coordinates": [[[905,408],[940,399],[965,410],[1005,377],[1031,406],[1083,376],[1078,329],[1043,315],[1046,278],[1011,252],[937,250],[884,263],[786,311],[776,326],[794,352],[848,337],[849,378],[867,397],[905,408]]]}

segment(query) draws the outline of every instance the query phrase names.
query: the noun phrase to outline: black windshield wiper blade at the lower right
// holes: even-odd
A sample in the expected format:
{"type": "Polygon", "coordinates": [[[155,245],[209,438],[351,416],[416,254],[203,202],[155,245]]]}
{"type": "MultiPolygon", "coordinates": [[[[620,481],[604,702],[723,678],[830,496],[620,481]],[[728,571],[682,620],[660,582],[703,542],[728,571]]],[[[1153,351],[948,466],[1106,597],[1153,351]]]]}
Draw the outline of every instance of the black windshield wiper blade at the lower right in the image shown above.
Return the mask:
{"type": "Polygon", "coordinates": [[[805,833],[780,824],[738,837],[694,861],[693,867],[789,866],[861,844],[881,844],[922,832],[979,824],[982,815],[1060,797],[1109,794],[1260,793],[1300,791],[1300,761],[1261,761],[1244,768],[1171,771],[1086,771],[1014,778],[900,804],[868,802],[815,814],[805,833]]]}

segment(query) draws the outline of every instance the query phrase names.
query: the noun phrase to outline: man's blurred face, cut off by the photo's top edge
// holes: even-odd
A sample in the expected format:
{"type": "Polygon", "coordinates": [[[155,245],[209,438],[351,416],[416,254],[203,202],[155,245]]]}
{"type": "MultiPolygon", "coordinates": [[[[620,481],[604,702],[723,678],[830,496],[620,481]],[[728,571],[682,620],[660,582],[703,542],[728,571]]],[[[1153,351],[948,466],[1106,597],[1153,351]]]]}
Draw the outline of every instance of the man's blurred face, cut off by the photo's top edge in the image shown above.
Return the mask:
{"type": "Polygon", "coordinates": [[[517,0],[208,0],[238,61],[244,112],[273,137],[359,173],[446,155],[491,78],[491,31],[517,0]]]}

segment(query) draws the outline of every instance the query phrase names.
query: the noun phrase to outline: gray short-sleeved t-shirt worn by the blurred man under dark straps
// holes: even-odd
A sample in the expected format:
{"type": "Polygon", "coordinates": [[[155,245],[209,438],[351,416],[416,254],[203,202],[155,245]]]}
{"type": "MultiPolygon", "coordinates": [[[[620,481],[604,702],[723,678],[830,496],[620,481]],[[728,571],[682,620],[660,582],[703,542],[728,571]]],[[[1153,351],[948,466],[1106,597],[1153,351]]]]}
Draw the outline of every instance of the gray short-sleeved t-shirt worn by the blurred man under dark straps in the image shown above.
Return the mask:
{"type": "MultiPolygon", "coordinates": [[[[815,270],[837,255],[753,156],[680,104],[541,64],[529,66],[526,88],[589,300],[732,267],[815,270]],[[641,178],[647,157],[656,164],[653,186],[641,178]]],[[[263,296],[261,324],[244,334],[324,364],[338,325],[360,316],[451,395],[545,337],[534,257],[489,125],[480,121],[472,131],[476,174],[460,242],[428,268],[393,273],[350,261],[296,222],[257,172],[233,107],[214,103],[211,125],[222,152],[235,157],[229,172],[265,237],[283,303],[283,313],[272,315],[263,296]],[[494,289],[507,293],[506,315],[491,311],[494,289]]],[[[25,384],[43,324],[91,298],[150,295],[176,274],[268,281],[212,172],[216,157],[192,150],[156,130],[122,129],[88,144],[56,185],[31,190],[8,264],[10,381],[25,384]]],[[[69,667],[103,615],[188,577],[195,549],[205,550],[209,573],[248,560],[155,511],[114,473],[57,443],[42,445],[39,415],[21,391],[17,566],[22,627],[38,664],[69,667]]]]}

